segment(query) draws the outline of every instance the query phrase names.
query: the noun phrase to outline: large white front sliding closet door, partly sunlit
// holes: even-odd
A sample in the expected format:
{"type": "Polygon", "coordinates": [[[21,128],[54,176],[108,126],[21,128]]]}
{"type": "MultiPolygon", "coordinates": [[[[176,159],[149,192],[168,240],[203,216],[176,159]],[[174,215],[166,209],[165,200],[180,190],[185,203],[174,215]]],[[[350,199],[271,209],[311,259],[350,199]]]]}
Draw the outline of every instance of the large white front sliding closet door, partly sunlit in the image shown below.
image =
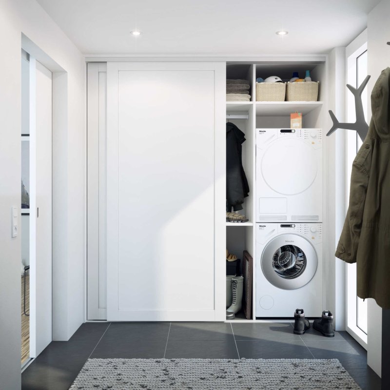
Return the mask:
{"type": "Polygon", "coordinates": [[[223,63],[107,64],[108,320],[224,320],[224,86],[223,63]]]}

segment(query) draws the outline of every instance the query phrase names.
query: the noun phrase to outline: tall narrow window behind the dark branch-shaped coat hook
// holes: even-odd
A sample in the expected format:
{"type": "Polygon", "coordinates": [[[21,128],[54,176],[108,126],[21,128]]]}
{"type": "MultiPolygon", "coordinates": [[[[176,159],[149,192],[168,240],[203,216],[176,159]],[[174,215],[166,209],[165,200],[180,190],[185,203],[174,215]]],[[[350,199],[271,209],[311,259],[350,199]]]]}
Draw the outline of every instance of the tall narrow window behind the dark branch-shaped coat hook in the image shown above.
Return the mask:
{"type": "MultiPolygon", "coordinates": [[[[347,59],[348,83],[355,88],[367,77],[367,43],[361,46],[347,59]]],[[[368,92],[367,87],[362,94],[363,110],[367,118],[368,92]]],[[[350,92],[347,95],[347,121],[356,120],[355,101],[350,92]]],[[[351,168],[362,140],[353,130],[347,133],[347,202],[350,195],[351,168]]],[[[356,264],[347,264],[347,330],[363,344],[367,344],[367,300],[356,295],[356,264]]]]}

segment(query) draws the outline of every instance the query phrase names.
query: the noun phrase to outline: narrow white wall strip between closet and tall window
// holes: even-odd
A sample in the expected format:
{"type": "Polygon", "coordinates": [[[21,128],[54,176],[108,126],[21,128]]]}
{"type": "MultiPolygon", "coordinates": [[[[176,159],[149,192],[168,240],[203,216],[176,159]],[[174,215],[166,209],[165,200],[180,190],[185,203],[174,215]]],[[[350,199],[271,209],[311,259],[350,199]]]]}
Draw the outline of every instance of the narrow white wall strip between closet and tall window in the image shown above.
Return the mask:
{"type": "MultiPolygon", "coordinates": [[[[329,110],[343,121],[345,116],[345,48],[336,47],[328,57],[328,102],[329,110]]],[[[331,118],[327,115],[326,134],[331,128],[331,118]]],[[[334,257],[338,238],[344,223],[345,215],[345,134],[336,131],[325,137],[325,166],[327,176],[325,188],[327,201],[325,232],[329,245],[324,246],[324,281],[326,308],[334,314],[334,325],[337,331],[345,330],[345,263],[334,257]],[[340,215],[342,217],[340,218],[340,215]]],[[[325,234],[324,234],[325,236],[325,234]]]]}

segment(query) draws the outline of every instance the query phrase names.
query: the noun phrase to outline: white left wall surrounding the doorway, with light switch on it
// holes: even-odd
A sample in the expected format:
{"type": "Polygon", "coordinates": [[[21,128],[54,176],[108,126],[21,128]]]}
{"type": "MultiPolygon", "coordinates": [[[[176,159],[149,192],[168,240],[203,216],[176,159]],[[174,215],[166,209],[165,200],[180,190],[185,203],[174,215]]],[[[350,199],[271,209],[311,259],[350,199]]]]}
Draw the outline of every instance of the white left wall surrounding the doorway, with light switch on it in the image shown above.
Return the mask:
{"type": "MultiPolygon", "coordinates": [[[[85,63],[81,53],[34,0],[0,0],[0,383],[20,389],[20,235],[11,238],[11,206],[20,206],[21,34],[67,72],[67,128],[62,128],[61,194],[53,226],[54,281],[65,307],[56,306],[53,334],[67,340],[83,322],[85,63]],[[56,239],[55,237],[55,239],[56,239]],[[57,317],[56,317],[57,316],[57,317]],[[56,332],[56,326],[64,324],[56,332]],[[57,324],[57,325],[56,325],[57,324]]],[[[20,219],[19,219],[20,223],[20,219]]]]}

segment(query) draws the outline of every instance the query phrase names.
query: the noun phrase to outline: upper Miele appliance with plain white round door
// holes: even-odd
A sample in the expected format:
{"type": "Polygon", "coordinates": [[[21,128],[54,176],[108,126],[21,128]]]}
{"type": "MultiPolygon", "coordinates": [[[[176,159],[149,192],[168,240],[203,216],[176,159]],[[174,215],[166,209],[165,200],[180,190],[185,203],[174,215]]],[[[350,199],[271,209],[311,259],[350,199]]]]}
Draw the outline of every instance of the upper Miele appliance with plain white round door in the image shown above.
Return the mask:
{"type": "Polygon", "coordinates": [[[322,130],[256,129],[256,222],[322,222],[322,130]]]}

